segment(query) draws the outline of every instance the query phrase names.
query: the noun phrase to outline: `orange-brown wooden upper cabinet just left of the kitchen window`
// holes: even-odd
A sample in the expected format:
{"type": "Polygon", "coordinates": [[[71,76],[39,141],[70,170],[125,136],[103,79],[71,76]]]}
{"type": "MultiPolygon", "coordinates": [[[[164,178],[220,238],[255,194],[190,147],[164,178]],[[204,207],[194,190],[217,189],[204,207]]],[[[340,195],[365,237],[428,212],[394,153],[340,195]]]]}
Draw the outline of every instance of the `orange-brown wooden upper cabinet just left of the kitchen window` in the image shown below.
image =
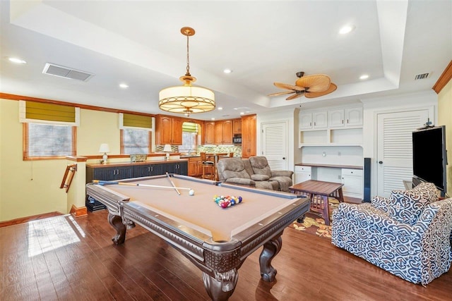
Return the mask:
{"type": "Polygon", "coordinates": [[[182,145],[182,118],[158,115],[155,120],[157,145],[182,145]]]}

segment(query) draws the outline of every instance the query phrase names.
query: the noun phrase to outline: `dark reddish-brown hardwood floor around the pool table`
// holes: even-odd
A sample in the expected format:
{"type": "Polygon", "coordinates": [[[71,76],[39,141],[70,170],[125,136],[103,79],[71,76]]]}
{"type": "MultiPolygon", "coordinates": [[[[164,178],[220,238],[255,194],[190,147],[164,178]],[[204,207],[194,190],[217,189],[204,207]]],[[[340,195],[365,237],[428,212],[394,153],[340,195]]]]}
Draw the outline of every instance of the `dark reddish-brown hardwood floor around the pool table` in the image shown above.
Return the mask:
{"type": "MultiPolygon", "coordinates": [[[[209,300],[201,271],[137,226],[112,245],[107,211],[57,216],[0,228],[0,300],[209,300]]],[[[287,228],[261,281],[258,255],[239,269],[230,300],[452,300],[452,271],[423,287],[287,228]]]]}

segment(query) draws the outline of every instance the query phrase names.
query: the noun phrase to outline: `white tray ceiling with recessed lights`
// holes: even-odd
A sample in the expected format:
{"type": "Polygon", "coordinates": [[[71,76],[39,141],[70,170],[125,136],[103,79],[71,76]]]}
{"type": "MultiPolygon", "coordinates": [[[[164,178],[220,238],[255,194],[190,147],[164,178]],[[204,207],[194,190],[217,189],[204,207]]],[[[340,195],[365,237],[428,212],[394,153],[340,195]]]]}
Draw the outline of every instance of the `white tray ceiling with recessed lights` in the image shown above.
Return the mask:
{"type": "Polygon", "coordinates": [[[158,92],[181,84],[180,29],[193,27],[191,75],[224,108],[192,115],[203,120],[431,90],[452,59],[450,0],[1,0],[0,8],[0,92],[145,113],[164,113],[158,92]],[[339,35],[347,24],[355,30],[339,35]],[[45,75],[45,63],[95,76],[45,75]],[[294,85],[297,71],[327,74],[338,90],[290,102],[267,97],[281,92],[273,82],[294,85]],[[369,79],[359,80],[364,73],[369,79]],[[429,78],[415,81],[420,73],[429,78]]]}

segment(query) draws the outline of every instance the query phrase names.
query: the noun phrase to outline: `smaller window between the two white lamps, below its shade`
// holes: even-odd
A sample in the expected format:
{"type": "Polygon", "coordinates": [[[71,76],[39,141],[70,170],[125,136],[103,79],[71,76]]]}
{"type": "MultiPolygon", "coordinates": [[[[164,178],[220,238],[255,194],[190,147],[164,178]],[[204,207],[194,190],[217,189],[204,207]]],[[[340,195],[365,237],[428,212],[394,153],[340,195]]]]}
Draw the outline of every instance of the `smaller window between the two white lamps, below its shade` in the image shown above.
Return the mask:
{"type": "Polygon", "coordinates": [[[122,129],[121,154],[149,154],[151,133],[149,130],[122,129]]]}

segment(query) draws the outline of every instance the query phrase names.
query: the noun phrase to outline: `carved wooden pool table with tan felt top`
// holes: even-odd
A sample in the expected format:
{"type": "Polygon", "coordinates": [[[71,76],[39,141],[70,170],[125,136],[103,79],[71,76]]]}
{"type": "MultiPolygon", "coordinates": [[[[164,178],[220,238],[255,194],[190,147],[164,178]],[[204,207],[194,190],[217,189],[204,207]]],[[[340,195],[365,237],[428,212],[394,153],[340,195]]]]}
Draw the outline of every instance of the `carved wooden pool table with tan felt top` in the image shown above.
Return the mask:
{"type": "Polygon", "coordinates": [[[307,197],[176,174],[88,183],[86,191],[107,207],[108,221],[117,231],[114,244],[124,243],[126,229],[138,223],[203,271],[204,286],[213,300],[232,295],[238,269],[261,246],[261,277],[274,281],[271,261],[280,251],[281,235],[309,210],[307,197]],[[194,190],[194,195],[184,188],[194,190]],[[242,202],[221,208],[214,195],[240,196],[242,202]]]}

